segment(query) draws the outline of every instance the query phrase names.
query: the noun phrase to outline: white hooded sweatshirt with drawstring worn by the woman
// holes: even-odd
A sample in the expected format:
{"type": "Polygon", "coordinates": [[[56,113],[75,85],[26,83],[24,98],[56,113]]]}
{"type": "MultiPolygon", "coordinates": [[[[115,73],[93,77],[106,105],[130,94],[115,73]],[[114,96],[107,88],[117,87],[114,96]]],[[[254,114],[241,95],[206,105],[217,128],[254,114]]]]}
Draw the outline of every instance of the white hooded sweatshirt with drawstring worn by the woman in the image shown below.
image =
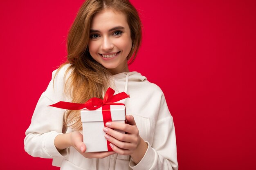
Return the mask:
{"type": "MultiPolygon", "coordinates": [[[[133,115],[139,135],[148,149],[136,165],[129,155],[114,154],[103,159],[83,157],[73,147],[58,152],[54,138],[63,131],[63,109],[47,107],[59,101],[71,102],[64,94],[65,65],[41,95],[24,140],[25,151],[33,157],[53,158],[61,170],[177,170],[175,128],[162,90],[135,71],[111,77],[115,93],[126,92],[126,114],[133,115]]],[[[67,74],[69,75],[69,74],[67,74]]],[[[67,76],[68,77],[68,76],[67,76]]],[[[71,132],[68,128],[67,132],[71,132]]]]}

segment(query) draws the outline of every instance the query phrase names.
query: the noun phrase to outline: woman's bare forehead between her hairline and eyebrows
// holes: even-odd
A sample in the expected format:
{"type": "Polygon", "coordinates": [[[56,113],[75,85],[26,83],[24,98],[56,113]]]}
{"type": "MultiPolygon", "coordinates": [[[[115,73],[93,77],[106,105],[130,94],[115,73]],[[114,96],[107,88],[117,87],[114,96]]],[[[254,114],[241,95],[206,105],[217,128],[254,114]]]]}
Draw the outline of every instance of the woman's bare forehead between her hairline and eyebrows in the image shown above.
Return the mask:
{"type": "Polygon", "coordinates": [[[92,18],[91,29],[105,30],[115,26],[128,27],[126,15],[112,9],[104,9],[92,18]]]}

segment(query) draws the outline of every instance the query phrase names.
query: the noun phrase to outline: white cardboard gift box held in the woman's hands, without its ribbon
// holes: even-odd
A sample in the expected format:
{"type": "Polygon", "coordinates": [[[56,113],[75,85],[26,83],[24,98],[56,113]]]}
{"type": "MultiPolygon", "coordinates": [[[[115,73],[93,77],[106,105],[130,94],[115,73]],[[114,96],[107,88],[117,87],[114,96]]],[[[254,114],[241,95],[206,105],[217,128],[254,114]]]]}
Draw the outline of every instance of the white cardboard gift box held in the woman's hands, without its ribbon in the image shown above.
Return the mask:
{"type": "MultiPolygon", "coordinates": [[[[111,119],[114,122],[125,123],[125,106],[110,105],[111,119]]],[[[81,110],[81,121],[83,124],[83,143],[86,146],[85,152],[102,152],[108,151],[105,132],[103,131],[104,123],[102,116],[102,107],[97,110],[81,110]]],[[[116,130],[116,129],[114,129],[116,130]]],[[[121,133],[124,131],[117,130],[121,133]]]]}

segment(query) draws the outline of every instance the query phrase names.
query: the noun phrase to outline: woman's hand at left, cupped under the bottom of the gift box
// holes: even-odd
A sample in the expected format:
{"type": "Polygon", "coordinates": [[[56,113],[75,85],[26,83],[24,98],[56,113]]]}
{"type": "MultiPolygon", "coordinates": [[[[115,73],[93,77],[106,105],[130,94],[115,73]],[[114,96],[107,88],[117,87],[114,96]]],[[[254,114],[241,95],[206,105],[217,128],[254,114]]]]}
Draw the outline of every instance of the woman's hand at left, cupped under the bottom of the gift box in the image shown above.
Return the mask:
{"type": "Polygon", "coordinates": [[[83,135],[79,131],[71,132],[70,134],[71,145],[86,158],[105,158],[115,152],[86,152],[86,146],[83,143],[83,135]]]}

